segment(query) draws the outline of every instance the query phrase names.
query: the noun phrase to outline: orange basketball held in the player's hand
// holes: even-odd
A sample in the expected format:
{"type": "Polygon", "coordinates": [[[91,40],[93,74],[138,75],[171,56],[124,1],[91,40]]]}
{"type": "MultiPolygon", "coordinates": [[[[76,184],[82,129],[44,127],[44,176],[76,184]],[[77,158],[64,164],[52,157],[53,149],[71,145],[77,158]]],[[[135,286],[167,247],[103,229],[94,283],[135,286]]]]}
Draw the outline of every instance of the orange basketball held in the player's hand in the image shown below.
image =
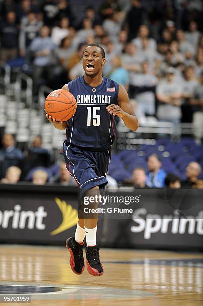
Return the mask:
{"type": "Polygon", "coordinates": [[[64,89],[57,89],[49,93],[45,101],[46,113],[56,121],[67,121],[73,117],[77,109],[77,102],[73,94],[64,89]]]}

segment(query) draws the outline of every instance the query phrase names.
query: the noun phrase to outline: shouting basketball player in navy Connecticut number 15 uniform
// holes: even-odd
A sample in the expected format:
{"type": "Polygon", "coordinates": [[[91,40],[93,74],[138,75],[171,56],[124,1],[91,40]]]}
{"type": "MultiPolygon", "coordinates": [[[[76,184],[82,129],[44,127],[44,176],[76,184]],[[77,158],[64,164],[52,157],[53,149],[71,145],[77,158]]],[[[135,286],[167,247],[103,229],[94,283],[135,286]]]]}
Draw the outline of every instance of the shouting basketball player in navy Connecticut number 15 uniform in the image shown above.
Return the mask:
{"type": "MultiPolygon", "coordinates": [[[[46,115],[53,125],[66,129],[63,143],[66,167],[80,188],[81,199],[99,196],[108,183],[106,173],[111,158],[111,145],[116,133],[116,116],[136,131],[138,120],[130,105],[125,88],[102,76],[105,64],[104,49],[98,44],[88,44],[83,53],[84,76],[72,80],[62,89],[69,90],[76,98],[77,110],[67,122],[56,122],[46,115]]],[[[98,198],[98,197],[97,197],[98,198]]],[[[96,200],[91,208],[96,208],[96,200]]],[[[74,273],[84,271],[82,248],[86,237],[86,265],[93,276],[104,273],[96,245],[97,214],[84,217],[79,211],[75,236],[67,239],[70,266],[74,273]]]]}

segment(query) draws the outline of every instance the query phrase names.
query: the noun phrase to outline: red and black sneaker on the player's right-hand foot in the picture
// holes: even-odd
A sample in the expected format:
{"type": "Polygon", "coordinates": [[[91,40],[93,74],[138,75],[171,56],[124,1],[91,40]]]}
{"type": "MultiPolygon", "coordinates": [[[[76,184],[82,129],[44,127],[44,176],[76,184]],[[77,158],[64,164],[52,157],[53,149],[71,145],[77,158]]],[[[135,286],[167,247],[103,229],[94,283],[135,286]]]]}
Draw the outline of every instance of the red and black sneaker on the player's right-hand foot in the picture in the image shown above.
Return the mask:
{"type": "Polygon", "coordinates": [[[86,246],[87,271],[93,276],[104,274],[103,266],[99,260],[99,246],[86,246]]]}

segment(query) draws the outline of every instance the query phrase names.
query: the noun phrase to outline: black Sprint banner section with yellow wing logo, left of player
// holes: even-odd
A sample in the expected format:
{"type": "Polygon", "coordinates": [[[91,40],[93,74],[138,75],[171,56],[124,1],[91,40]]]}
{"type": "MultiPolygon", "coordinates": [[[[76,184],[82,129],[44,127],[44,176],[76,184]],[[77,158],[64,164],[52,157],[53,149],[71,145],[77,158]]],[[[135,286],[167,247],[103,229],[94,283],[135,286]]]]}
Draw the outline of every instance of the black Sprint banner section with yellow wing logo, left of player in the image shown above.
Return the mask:
{"type": "Polygon", "coordinates": [[[54,187],[10,189],[0,189],[0,241],[57,244],[74,234],[76,191],[67,195],[64,188],[63,192],[54,187]]]}

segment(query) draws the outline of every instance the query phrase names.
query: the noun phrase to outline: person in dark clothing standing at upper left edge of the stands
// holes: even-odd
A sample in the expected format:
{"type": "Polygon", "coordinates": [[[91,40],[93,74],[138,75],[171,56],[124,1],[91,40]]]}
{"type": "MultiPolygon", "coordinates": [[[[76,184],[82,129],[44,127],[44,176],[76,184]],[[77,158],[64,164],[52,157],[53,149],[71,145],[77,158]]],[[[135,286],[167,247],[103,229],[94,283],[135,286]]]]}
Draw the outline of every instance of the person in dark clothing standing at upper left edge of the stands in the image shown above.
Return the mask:
{"type": "Polygon", "coordinates": [[[16,24],[16,14],[9,11],[6,21],[0,24],[0,60],[6,62],[18,55],[19,29],[16,24]]]}

